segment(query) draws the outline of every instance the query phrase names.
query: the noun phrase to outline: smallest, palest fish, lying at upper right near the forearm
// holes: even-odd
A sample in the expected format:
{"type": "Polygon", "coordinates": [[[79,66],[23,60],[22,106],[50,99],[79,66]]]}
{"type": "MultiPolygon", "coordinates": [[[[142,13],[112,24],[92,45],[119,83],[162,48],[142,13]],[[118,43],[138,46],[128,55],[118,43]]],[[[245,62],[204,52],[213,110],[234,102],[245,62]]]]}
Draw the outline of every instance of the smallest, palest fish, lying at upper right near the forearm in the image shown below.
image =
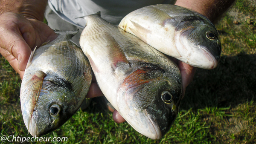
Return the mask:
{"type": "Polygon", "coordinates": [[[204,15],[171,4],[145,6],[127,14],[119,28],[191,66],[213,69],[221,55],[214,24],[204,15]]]}

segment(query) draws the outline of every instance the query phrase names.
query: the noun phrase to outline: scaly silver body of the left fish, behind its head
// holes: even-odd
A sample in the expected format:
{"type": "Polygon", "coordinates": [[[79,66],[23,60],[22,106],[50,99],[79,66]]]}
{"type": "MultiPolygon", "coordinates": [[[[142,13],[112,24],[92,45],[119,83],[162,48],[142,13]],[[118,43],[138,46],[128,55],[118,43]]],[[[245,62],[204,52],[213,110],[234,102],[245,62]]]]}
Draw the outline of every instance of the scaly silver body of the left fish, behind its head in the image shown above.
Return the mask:
{"type": "Polygon", "coordinates": [[[45,73],[53,72],[58,77],[74,84],[74,89],[77,91],[81,89],[81,85],[76,85],[76,83],[84,77],[81,70],[84,69],[84,72],[87,72],[88,67],[90,67],[88,63],[81,61],[81,59],[84,59],[81,49],[67,45],[67,41],[55,43],[54,45],[49,43],[35,51],[32,64],[26,71],[32,71],[31,74],[36,69],[45,70],[45,73]]]}

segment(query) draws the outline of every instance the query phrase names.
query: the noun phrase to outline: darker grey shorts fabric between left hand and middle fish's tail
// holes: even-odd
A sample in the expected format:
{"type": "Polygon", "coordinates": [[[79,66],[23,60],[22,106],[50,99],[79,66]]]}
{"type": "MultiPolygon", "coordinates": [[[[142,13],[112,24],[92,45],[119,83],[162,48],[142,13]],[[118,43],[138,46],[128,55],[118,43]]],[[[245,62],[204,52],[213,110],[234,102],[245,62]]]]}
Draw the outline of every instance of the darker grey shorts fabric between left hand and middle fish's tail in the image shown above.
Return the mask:
{"type": "Polygon", "coordinates": [[[74,31],[79,29],[79,32],[72,38],[72,40],[77,45],[79,45],[79,38],[83,29],[77,26],[74,26],[73,24],[68,23],[67,21],[61,19],[61,17],[55,14],[55,12],[53,12],[49,6],[47,6],[46,8],[44,16],[48,22],[48,26],[53,30],[56,29],[56,30],[62,30],[62,31],[74,31]]]}

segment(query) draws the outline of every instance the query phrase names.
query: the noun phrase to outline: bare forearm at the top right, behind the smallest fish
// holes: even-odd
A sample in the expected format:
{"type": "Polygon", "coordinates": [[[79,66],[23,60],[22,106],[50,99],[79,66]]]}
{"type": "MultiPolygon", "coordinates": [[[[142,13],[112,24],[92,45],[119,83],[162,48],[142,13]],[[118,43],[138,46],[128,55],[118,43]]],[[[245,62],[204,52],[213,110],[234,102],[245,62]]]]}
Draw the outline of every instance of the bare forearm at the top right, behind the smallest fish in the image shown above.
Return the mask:
{"type": "Polygon", "coordinates": [[[195,10],[215,23],[235,0],[177,0],[175,5],[195,10]]]}

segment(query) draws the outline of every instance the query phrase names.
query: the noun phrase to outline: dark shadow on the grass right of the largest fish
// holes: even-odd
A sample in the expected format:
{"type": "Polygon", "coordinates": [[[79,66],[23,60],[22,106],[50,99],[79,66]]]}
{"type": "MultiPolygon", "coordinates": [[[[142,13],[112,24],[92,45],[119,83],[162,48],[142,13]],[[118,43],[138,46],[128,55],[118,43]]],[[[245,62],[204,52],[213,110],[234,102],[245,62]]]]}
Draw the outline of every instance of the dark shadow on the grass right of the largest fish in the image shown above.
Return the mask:
{"type": "Polygon", "coordinates": [[[215,69],[198,69],[180,109],[236,107],[256,101],[256,55],[222,56],[215,69]]]}

